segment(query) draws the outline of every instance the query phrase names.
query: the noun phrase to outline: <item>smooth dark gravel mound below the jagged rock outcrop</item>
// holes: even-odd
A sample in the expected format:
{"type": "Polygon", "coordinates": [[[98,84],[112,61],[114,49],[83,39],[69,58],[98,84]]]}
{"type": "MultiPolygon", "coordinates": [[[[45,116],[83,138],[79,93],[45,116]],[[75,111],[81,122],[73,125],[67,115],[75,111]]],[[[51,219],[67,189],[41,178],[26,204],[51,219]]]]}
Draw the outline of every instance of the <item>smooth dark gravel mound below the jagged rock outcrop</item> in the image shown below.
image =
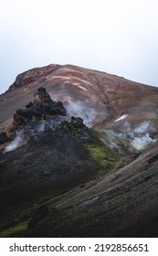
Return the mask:
{"type": "Polygon", "coordinates": [[[90,180],[98,170],[82,140],[64,129],[62,133],[58,129],[38,133],[18,150],[3,155],[4,159],[0,180],[4,208],[8,208],[7,195],[9,206],[16,206],[48,193],[61,194],[90,180]]]}

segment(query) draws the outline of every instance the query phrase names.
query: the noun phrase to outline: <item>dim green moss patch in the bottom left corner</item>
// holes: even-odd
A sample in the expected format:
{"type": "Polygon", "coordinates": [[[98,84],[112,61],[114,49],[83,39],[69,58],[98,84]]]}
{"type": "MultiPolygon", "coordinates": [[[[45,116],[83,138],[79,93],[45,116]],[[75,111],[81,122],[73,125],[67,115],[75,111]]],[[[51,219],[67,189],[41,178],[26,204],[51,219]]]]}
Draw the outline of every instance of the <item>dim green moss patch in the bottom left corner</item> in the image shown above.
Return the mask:
{"type": "Polygon", "coordinates": [[[15,233],[25,231],[27,229],[27,226],[28,226],[28,220],[24,221],[24,222],[20,222],[19,224],[17,224],[16,226],[14,226],[12,228],[5,229],[5,230],[1,231],[0,238],[7,238],[15,233]]]}

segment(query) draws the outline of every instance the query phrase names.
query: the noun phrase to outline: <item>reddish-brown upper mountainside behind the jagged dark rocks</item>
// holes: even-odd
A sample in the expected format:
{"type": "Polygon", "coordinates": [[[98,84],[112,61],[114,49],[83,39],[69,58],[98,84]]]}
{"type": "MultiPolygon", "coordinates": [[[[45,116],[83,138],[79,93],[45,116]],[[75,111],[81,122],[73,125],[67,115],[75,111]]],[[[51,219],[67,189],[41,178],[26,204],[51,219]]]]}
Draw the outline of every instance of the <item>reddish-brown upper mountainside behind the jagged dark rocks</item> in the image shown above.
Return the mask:
{"type": "Polygon", "coordinates": [[[33,100],[41,86],[47,89],[52,100],[61,101],[68,110],[71,105],[74,108],[74,104],[82,108],[69,110],[69,114],[80,114],[93,127],[105,127],[122,113],[129,115],[132,125],[138,120],[150,120],[154,126],[158,124],[157,88],[97,70],[49,65],[17,76],[10,90],[0,96],[1,130],[16,109],[33,100]]]}

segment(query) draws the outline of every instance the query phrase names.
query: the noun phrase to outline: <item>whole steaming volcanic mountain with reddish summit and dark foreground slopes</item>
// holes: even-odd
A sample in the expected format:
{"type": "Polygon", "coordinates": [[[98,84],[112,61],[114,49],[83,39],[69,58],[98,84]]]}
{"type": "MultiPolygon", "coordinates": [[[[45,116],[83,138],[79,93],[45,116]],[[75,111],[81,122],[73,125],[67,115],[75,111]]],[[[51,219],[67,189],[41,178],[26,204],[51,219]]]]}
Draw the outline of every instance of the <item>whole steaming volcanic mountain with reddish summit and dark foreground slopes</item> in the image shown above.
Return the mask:
{"type": "Polygon", "coordinates": [[[158,88],[48,65],[0,95],[1,237],[156,237],[158,88]]]}

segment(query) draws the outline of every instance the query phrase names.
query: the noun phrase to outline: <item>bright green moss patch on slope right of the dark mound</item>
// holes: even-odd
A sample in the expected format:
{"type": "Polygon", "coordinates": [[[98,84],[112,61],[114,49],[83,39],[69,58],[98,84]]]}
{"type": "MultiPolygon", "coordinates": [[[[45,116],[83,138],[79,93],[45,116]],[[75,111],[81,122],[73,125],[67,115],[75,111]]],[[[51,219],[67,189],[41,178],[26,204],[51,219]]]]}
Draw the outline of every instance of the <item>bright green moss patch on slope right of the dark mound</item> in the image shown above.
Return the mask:
{"type": "Polygon", "coordinates": [[[89,143],[85,144],[85,146],[89,150],[91,157],[100,165],[100,175],[105,174],[107,170],[114,167],[116,162],[119,160],[118,156],[104,144],[89,143]]]}

